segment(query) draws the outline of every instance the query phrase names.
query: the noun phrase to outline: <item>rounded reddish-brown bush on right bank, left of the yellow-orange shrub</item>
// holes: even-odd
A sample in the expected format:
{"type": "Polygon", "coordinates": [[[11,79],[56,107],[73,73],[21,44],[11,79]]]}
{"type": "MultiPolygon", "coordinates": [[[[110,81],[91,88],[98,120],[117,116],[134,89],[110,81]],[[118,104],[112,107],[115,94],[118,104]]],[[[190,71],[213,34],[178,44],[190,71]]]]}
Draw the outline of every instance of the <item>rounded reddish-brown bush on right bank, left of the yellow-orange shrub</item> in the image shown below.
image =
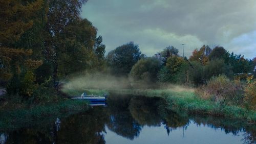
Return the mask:
{"type": "Polygon", "coordinates": [[[225,75],[212,77],[207,85],[197,89],[197,93],[201,98],[221,105],[241,105],[243,102],[243,85],[239,81],[230,81],[225,75]]]}

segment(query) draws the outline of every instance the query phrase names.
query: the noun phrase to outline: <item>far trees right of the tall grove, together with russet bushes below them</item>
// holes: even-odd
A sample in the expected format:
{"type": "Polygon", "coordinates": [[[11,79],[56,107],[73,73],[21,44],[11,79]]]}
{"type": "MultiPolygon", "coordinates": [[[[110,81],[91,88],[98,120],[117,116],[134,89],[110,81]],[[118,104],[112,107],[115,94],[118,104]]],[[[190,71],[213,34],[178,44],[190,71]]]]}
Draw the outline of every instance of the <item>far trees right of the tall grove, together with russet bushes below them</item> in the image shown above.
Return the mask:
{"type": "Polygon", "coordinates": [[[130,42],[111,51],[106,60],[112,74],[128,76],[133,88],[193,86],[200,99],[256,110],[256,58],[248,60],[222,46],[211,49],[208,45],[194,50],[189,59],[178,53],[174,46],[167,46],[153,57],[145,57],[130,42]]]}

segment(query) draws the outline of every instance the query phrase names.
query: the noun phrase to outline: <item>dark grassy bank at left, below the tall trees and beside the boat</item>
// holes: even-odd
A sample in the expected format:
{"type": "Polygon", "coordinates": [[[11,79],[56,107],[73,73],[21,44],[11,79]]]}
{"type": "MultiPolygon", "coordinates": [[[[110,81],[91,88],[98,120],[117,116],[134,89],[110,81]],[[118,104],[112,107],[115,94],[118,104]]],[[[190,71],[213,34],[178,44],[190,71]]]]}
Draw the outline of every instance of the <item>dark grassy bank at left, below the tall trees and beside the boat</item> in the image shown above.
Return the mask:
{"type": "Polygon", "coordinates": [[[0,110],[0,131],[30,126],[35,121],[51,121],[56,117],[68,116],[88,108],[87,101],[62,100],[57,103],[37,105],[29,109],[0,110]]]}

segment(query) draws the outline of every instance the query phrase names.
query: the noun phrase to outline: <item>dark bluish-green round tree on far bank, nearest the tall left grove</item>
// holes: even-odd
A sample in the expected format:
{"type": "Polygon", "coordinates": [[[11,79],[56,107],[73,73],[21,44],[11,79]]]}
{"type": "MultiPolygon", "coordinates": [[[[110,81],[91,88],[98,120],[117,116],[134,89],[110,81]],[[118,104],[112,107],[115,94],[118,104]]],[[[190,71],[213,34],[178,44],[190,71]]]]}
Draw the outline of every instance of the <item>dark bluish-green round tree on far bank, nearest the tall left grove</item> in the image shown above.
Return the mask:
{"type": "Polygon", "coordinates": [[[110,51],[106,56],[106,61],[112,68],[113,74],[127,75],[140,58],[141,52],[139,46],[135,45],[134,42],[129,42],[110,51]]]}

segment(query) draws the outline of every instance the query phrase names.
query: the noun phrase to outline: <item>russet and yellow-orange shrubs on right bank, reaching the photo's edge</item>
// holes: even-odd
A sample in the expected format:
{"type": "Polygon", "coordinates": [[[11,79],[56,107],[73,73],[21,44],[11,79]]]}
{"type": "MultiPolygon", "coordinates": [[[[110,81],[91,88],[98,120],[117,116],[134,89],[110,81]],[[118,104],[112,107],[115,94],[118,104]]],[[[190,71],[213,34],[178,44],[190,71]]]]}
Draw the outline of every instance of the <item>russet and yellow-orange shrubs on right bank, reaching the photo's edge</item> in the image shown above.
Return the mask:
{"type": "Polygon", "coordinates": [[[206,85],[198,87],[201,99],[210,100],[221,106],[239,106],[256,111],[256,81],[252,76],[246,81],[230,80],[225,75],[212,77],[206,85]]]}

